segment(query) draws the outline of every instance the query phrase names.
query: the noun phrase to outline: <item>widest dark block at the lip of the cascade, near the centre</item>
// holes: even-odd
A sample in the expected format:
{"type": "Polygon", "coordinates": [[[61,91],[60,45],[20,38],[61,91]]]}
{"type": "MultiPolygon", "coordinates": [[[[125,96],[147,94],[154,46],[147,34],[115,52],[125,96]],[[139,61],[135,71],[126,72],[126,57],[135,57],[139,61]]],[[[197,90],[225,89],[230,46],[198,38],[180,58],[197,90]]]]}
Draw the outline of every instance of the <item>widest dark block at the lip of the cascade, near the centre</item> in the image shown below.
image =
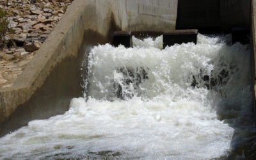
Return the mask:
{"type": "Polygon", "coordinates": [[[197,29],[164,31],[163,48],[165,48],[167,45],[171,46],[174,44],[182,44],[188,42],[194,42],[194,44],[196,44],[197,34],[197,29]]]}

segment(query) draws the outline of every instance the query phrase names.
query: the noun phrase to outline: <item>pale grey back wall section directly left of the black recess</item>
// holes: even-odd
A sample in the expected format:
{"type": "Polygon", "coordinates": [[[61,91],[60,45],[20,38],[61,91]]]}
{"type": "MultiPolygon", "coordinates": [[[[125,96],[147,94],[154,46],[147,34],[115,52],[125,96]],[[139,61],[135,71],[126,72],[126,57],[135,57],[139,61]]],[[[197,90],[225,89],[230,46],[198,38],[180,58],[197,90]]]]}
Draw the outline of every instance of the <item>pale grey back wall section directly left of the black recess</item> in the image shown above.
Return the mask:
{"type": "Polygon", "coordinates": [[[131,31],[175,29],[177,4],[178,0],[128,0],[128,28],[131,31]]]}

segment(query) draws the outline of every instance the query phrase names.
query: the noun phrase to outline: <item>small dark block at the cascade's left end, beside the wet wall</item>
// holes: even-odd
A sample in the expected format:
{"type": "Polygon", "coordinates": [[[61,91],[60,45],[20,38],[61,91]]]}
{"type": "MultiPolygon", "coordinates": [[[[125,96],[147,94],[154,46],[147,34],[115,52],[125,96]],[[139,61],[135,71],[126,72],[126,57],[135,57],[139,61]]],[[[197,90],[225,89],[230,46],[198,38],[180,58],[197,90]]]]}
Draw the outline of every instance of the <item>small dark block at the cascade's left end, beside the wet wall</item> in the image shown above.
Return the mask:
{"type": "Polygon", "coordinates": [[[118,45],[124,45],[124,47],[132,47],[132,36],[131,31],[115,31],[113,45],[118,47],[118,45]]]}

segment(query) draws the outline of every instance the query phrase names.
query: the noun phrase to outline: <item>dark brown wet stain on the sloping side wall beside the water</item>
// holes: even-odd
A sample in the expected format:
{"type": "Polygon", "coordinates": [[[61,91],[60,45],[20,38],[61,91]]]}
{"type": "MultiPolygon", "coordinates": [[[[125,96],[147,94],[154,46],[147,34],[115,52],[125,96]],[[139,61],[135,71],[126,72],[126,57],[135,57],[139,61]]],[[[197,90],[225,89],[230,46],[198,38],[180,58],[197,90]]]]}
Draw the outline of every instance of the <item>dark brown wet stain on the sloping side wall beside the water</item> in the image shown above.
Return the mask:
{"type": "Polygon", "coordinates": [[[82,75],[86,72],[86,68],[82,68],[83,60],[92,46],[106,42],[109,40],[99,33],[85,31],[78,56],[66,58],[54,67],[29,102],[18,106],[12,116],[0,125],[0,137],[28,125],[31,120],[61,115],[68,110],[72,98],[83,97],[82,75]]]}

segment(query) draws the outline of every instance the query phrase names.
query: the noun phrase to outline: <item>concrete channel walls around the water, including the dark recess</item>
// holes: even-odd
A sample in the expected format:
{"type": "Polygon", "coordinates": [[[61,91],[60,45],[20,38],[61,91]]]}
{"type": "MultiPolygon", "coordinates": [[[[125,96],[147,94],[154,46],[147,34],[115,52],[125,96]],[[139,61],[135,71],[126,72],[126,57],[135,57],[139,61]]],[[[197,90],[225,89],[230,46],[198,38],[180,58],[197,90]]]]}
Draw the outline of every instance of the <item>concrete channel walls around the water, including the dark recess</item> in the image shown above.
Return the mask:
{"type": "Polygon", "coordinates": [[[79,68],[84,52],[111,43],[114,31],[196,28],[211,33],[246,28],[251,35],[255,85],[255,17],[256,0],[252,5],[250,0],[76,0],[13,86],[0,90],[1,135],[30,120],[67,111],[69,100],[82,94],[79,68]]]}

